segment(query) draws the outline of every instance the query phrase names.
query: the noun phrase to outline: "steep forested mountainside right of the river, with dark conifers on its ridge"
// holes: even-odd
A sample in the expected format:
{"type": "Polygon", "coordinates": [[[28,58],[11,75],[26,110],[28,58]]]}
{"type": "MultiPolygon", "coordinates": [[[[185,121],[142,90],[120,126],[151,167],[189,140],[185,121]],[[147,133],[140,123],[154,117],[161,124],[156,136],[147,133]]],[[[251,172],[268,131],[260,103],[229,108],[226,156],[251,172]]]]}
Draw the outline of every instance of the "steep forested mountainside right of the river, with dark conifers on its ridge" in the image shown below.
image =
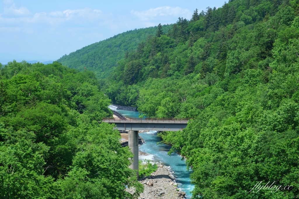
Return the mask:
{"type": "Polygon", "coordinates": [[[147,117],[194,118],[160,134],[194,170],[193,198],[298,198],[298,3],[195,10],[169,31],[158,26],[100,80],[113,103],[147,117]],[[294,188],[245,192],[259,181],[294,188]]]}

